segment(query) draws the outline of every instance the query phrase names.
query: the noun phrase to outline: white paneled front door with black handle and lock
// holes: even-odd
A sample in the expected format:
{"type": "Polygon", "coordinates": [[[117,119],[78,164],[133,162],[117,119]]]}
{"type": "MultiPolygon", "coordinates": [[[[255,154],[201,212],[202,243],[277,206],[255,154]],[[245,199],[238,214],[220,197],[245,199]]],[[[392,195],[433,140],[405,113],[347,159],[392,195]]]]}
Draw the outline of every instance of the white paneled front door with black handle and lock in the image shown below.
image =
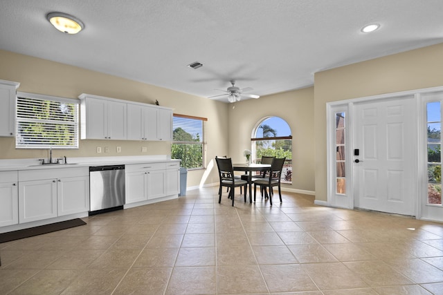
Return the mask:
{"type": "Polygon", "coordinates": [[[354,207],[415,216],[415,113],[413,95],[354,104],[354,207]]]}

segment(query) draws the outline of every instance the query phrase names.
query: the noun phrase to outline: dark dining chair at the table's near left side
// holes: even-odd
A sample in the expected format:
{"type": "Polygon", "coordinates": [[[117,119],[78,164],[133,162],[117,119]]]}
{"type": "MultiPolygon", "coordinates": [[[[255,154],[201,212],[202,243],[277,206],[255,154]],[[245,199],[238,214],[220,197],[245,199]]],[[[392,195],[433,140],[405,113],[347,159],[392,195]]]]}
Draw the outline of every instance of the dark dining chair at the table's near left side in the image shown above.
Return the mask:
{"type": "Polygon", "coordinates": [[[248,182],[246,180],[234,177],[232,160],[230,158],[215,158],[215,162],[217,162],[217,167],[219,169],[219,179],[220,179],[219,203],[221,202],[221,187],[228,187],[229,189],[228,198],[233,200],[233,206],[235,199],[234,198],[235,187],[244,187],[244,202],[246,202],[246,185],[248,184],[248,182]]]}

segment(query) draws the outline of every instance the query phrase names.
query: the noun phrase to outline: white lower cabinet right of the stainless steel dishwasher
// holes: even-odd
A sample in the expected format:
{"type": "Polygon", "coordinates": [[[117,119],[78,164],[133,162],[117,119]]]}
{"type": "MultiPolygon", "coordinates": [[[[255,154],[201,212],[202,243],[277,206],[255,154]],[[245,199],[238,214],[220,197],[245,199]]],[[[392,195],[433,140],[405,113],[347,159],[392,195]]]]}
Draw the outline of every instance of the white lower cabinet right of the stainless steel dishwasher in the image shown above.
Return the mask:
{"type": "Polygon", "coordinates": [[[178,196],[180,162],[127,164],[125,176],[126,204],[178,196]]]}

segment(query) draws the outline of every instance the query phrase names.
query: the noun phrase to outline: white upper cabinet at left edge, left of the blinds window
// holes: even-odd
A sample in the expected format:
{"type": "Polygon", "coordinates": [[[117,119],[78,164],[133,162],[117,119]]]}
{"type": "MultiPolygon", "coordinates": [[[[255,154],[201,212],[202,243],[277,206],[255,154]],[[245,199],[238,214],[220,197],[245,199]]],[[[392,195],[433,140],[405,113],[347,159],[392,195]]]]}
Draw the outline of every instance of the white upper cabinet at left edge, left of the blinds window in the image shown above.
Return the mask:
{"type": "Polygon", "coordinates": [[[0,80],[0,136],[15,135],[15,97],[19,85],[0,80]]]}

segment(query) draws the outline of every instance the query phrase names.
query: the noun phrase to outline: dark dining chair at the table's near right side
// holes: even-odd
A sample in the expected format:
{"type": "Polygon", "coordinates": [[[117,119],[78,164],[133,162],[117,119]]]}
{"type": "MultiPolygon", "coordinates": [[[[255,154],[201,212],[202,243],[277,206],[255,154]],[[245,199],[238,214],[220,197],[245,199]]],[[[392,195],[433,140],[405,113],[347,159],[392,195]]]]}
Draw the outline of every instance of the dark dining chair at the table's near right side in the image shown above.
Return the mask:
{"type": "Polygon", "coordinates": [[[269,188],[269,204],[272,206],[272,196],[273,187],[278,187],[278,195],[280,196],[280,202],[282,202],[282,189],[280,187],[280,182],[282,179],[282,170],[284,161],[286,158],[273,158],[271,163],[271,169],[269,169],[269,176],[264,178],[257,178],[253,181],[254,184],[254,202],[255,196],[257,195],[257,185],[264,190],[265,198],[268,197],[268,192],[266,188],[269,188]]]}

